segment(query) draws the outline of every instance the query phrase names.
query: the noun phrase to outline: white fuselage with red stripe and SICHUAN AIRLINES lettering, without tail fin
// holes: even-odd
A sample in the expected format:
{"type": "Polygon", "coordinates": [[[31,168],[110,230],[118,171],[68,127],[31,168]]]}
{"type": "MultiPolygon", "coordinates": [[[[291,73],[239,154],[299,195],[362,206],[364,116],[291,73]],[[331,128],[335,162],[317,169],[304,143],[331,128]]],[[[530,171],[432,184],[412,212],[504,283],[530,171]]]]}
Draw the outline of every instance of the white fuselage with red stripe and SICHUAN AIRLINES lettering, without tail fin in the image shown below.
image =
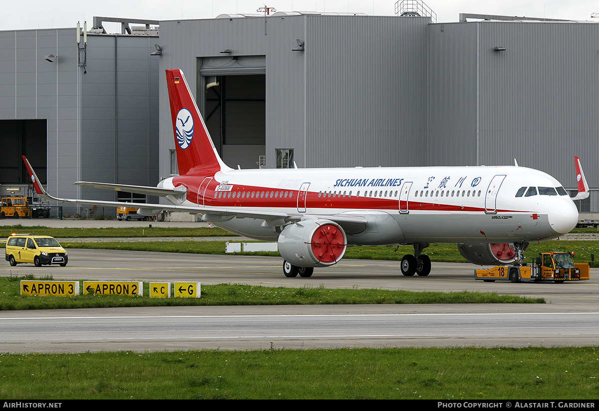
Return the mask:
{"type": "MultiPolygon", "coordinates": [[[[177,204],[199,205],[199,214],[229,208],[365,217],[365,229],[346,230],[348,244],[537,241],[570,231],[578,219],[556,179],[513,166],[228,170],[163,185],[185,186],[186,200],[177,204]]],[[[261,219],[216,225],[250,238],[278,237],[261,219]]]]}

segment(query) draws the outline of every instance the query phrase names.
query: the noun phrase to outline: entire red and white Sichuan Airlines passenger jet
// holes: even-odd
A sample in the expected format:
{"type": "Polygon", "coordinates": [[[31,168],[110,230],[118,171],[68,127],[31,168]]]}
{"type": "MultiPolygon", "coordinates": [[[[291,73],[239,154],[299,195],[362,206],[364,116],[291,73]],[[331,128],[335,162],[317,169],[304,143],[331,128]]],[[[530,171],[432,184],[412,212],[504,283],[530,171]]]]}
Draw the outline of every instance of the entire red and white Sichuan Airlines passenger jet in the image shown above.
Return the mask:
{"type": "Polygon", "coordinates": [[[376,167],[234,170],[220,159],[179,69],[167,86],[179,176],[158,187],[76,182],[171,204],[53,197],[23,156],[37,193],[65,203],[137,207],[197,214],[235,234],[277,241],[287,277],[310,277],[314,267],[337,264],[347,246],[412,244],[401,260],[404,276],[426,276],[429,243],[456,243],[480,265],[522,262],[531,241],[559,237],[577,223],[573,200],[589,195],[574,158],[578,194],[571,198],[549,174],[526,167],[376,167]]]}

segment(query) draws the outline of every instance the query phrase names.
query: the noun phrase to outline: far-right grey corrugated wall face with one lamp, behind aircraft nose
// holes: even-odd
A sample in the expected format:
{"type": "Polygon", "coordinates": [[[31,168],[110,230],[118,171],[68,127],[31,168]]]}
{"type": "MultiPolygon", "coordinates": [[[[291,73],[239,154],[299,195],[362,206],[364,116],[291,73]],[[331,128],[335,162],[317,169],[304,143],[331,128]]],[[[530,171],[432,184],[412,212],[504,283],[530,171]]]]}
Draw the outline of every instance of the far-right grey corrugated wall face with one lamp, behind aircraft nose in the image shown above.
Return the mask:
{"type": "Polygon", "coordinates": [[[599,25],[477,23],[483,164],[538,168],[575,188],[579,155],[599,184],[599,25]],[[494,47],[505,51],[496,52],[494,47]]]}

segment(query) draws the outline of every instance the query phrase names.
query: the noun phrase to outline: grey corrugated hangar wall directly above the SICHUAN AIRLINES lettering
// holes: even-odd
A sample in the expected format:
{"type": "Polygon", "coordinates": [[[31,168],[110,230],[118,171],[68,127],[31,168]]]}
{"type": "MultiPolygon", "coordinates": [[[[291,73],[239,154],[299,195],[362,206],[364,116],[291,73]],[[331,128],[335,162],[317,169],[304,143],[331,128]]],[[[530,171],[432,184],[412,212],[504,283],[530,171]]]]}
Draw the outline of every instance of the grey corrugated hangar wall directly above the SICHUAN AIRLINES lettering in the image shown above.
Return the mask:
{"type": "Polygon", "coordinates": [[[429,22],[308,17],[308,167],[422,164],[429,22]]]}

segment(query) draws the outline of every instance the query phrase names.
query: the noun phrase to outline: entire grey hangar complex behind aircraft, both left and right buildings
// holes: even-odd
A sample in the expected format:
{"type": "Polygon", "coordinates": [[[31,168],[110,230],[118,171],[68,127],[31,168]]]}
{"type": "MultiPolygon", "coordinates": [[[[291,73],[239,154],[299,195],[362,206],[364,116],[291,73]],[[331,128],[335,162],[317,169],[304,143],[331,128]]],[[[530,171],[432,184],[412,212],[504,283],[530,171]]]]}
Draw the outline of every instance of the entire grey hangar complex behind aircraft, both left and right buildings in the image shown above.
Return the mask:
{"type": "Polygon", "coordinates": [[[181,68],[231,167],[516,159],[574,190],[578,155],[580,210],[599,212],[595,23],[283,12],[159,26],[90,33],[86,74],[75,29],[0,32],[2,188],[26,181],[21,153],[60,197],[116,200],[71,183],[176,174],[164,70],[181,68]]]}

